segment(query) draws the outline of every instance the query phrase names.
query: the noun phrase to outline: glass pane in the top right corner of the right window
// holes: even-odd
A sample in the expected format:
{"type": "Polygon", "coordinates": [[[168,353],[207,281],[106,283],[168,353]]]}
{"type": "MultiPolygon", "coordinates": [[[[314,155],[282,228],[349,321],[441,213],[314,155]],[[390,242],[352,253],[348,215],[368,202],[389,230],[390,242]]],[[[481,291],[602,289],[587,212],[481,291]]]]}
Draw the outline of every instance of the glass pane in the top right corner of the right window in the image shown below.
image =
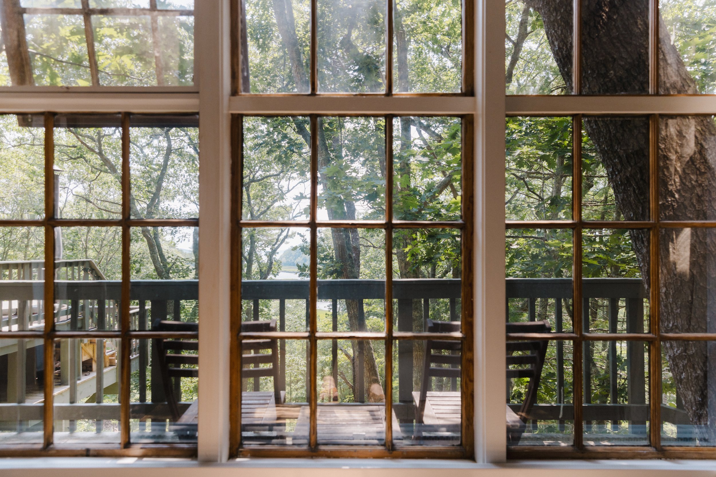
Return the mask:
{"type": "Polygon", "coordinates": [[[660,0],[659,93],[716,92],[716,4],[660,0]]]}

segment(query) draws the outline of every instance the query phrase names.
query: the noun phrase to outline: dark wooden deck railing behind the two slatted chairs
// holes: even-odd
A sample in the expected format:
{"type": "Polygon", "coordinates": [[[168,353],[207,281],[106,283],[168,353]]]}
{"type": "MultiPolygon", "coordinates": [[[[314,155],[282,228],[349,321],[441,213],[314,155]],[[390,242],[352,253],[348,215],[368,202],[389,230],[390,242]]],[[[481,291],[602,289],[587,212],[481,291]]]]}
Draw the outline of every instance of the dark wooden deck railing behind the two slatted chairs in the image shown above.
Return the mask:
{"type": "MultiPolygon", "coordinates": [[[[8,269],[4,269],[8,270],[8,269]]],[[[23,300],[32,302],[42,297],[42,282],[38,282],[37,269],[29,267],[33,271],[34,280],[23,280],[30,275],[22,275],[14,269],[12,275],[4,275],[5,280],[0,280],[0,300],[5,302],[20,303],[23,300]],[[39,294],[38,294],[39,291],[39,294]]],[[[25,269],[27,270],[27,269],[25,269]]],[[[83,271],[84,272],[84,271],[83,271]]],[[[22,272],[25,273],[25,272],[22,272]]],[[[28,274],[31,272],[27,272],[28,274]]],[[[69,277],[72,277],[72,270],[68,267],[69,277]]],[[[88,272],[89,273],[89,272],[88,272]]],[[[75,272],[74,277],[77,277],[75,272]]],[[[92,277],[95,278],[95,277],[92,277]]],[[[459,279],[442,279],[442,280],[393,280],[394,290],[393,297],[395,299],[394,306],[396,330],[397,331],[419,331],[415,330],[414,315],[422,315],[422,323],[425,319],[438,320],[460,320],[460,280],[459,279]],[[430,300],[445,300],[447,306],[442,306],[442,316],[435,316],[435,307],[430,308],[430,300]],[[414,313],[416,307],[422,308],[420,313],[414,313]],[[431,311],[432,310],[432,311],[431,311]],[[432,313],[432,315],[430,315],[432,313]]],[[[359,304],[359,327],[364,329],[364,300],[382,300],[384,298],[384,281],[382,280],[319,280],[318,282],[318,300],[332,303],[332,326],[337,330],[338,325],[338,301],[339,300],[357,300],[359,304]]],[[[121,282],[115,280],[59,280],[56,285],[56,297],[62,303],[67,303],[65,314],[57,321],[58,328],[62,329],[92,329],[84,327],[95,326],[95,329],[118,329],[118,310],[121,296],[121,282]],[[94,305],[83,308],[83,303],[93,303],[94,305]],[[110,307],[113,303],[114,308],[110,307]],[[85,317],[84,315],[87,315],[85,317]],[[92,318],[92,315],[95,318],[92,318]]],[[[639,279],[584,279],[584,310],[589,313],[590,300],[601,299],[601,303],[609,308],[609,331],[616,333],[617,315],[619,310],[622,313],[622,321],[626,317],[626,331],[628,333],[639,333],[644,331],[644,297],[646,294],[639,279]],[[621,306],[620,303],[624,303],[621,306]],[[620,308],[621,307],[621,308],[620,308]]],[[[540,313],[538,300],[553,300],[553,331],[556,333],[569,331],[569,304],[565,300],[571,299],[571,280],[570,279],[518,279],[511,278],[506,280],[506,290],[508,308],[515,305],[514,300],[522,300],[525,305],[526,316],[529,320],[538,319],[540,313]]],[[[147,330],[151,329],[151,322],[154,320],[175,319],[183,320],[181,310],[186,307],[183,303],[188,300],[198,300],[198,280],[140,280],[132,281],[130,289],[130,298],[132,300],[132,329],[147,330]]],[[[309,303],[309,282],[307,280],[251,280],[242,284],[242,298],[244,300],[244,316],[248,319],[258,319],[259,304],[261,300],[275,300],[279,303],[278,318],[279,330],[286,330],[286,300],[304,300],[306,303],[306,320],[308,316],[309,303]],[[247,303],[248,302],[248,303],[247,303]]],[[[30,305],[26,305],[30,307],[30,305]]],[[[21,307],[17,305],[14,310],[19,311],[21,307]]],[[[39,310],[41,313],[42,310],[39,310]]],[[[15,318],[15,317],[9,317],[15,318]]],[[[584,323],[589,326],[588,316],[585,316],[584,323]]],[[[8,317],[4,317],[8,319],[8,317]]],[[[246,319],[246,318],[245,318],[246,319]]],[[[263,319],[263,318],[261,318],[263,319]]],[[[9,340],[6,340],[9,341],[9,340]]],[[[24,340],[29,342],[30,340],[24,340]]],[[[140,373],[146,373],[150,367],[151,349],[149,340],[143,340],[142,343],[135,341],[132,343],[132,369],[140,370],[140,373]],[[136,363],[136,364],[135,364],[136,363]]],[[[281,388],[285,390],[286,386],[286,348],[284,340],[280,340],[279,348],[279,379],[281,380],[281,388]]],[[[627,346],[630,345],[627,344],[627,346]]],[[[32,343],[27,343],[32,345],[32,343]]],[[[37,345],[37,344],[34,344],[37,345]]],[[[362,348],[358,348],[359,353],[362,348]]],[[[0,353],[2,350],[0,349],[0,353]]],[[[400,413],[398,417],[401,419],[410,418],[412,415],[412,389],[413,389],[413,360],[412,360],[412,343],[400,340],[397,344],[397,378],[400,386],[399,399],[396,403],[396,412],[400,413]]],[[[332,359],[337,363],[337,345],[334,343],[332,347],[332,359]]],[[[543,404],[538,403],[533,409],[532,417],[534,420],[558,421],[561,416],[572,415],[571,403],[564,403],[563,396],[566,388],[565,383],[565,355],[563,344],[556,342],[556,388],[558,389],[558,401],[556,403],[543,404]]],[[[584,369],[591,368],[590,363],[593,359],[589,353],[584,353],[583,363],[584,369]]],[[[609,390],[610,403],[593,404],[586,403],[584,407],[585,421],[630,421],[634,424],[644,423],[648,419],[649,405],[646,403],[645,393],[645,377],[644,377],[644,353],[637,352],[636,349],[628,350],[626,379],[629,387],[629,397],[627,403],[619,403],[616,396],[616,379],[617,373],[614,363],[616,357],[613,352],[609,356],[611,363],[609,373],[609,390]]],[[[355,390],[354,400],[361,402],[364,400],[364,389],[362,388],[362,363],[363,360],[357,359],[357,389],[355,390]]],[[[337,366],[332,366],[336,373],[337,366]]],[[[165,415],[168,418],[168,410],[163,403],[163,391],[160,376],[153,373],[150,378],[151,395],[147,395],[147,376],[140,376],[140,402],[130,405],[132,416],[154,415],[160,418],[165,415]],[[147,402],[147,400],[149,402],[147,402]],[[142,414],[143,413],[143,414],[142,414]],[[153,413],[153,414],[152,414],[153,413]]],[[[1,372],[1,370],[0,370],[1,372]]],[[[101,373],[98,373],[98,375],[101,373]]],[[[19,375],[25,375],[21,373],[19,375]]],[[[3,377],[0,376],[0,379],[3,377]]],[[[334,376],[337,382],[337,376],[334,376]]],[[[5,377],[6,379],[6,377],[5,377]]],[[[590,379],[585,375],[585,396],[591,395],[589,391],[590,379]]],[[[455,383],[451,383],[455,386],[455,383]]],[[[99,387],[99,385],[98,385],[99,387]]],[[[24,402],[19,400],[19,402],[24,402]]],[[[82,419],[87,415],[92,415],[92,410],[87,406],[100,406],[95,409],[94,415],[108,418],[108,415],[119,414],[118,405],[62,405],[59,409],[59,415],[64,419],[82,419]],[[116,409],[115,409],[116,408],[116,409]],[[74,409],[74,410],[73,410],[74,409]],[[84,416],[84,417],[83,417],[84,416]]],[[[23,405],[0,405],[0,421],[13,421],[15,419],[31,419],[29,416],[42,415],[37,410],[37,406],[23,405]]],[[[134,417],[132,417],[134,418],[134,417]]],[[[667,408],[662,406],[662,418],[665,422],[671,422],[677,425],[689,424],[689,420],[684,410],[667,408]]]]}

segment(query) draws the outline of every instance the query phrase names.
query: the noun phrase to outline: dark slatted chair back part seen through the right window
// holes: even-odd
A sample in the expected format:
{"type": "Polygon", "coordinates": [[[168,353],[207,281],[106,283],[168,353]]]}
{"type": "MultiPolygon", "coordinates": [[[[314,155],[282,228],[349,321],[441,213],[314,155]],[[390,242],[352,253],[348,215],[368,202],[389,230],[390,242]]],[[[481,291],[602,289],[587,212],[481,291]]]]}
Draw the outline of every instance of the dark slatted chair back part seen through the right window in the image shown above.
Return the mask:
{"type": "MultiPolygon", "coordinates": [[[[550,333],[551,326],[547,320],[528,321],[507,323],[505,330],[507,333],[550,333]]],[[[508,386],[510,379],[529,379],[525,400],[520,410],[516,413],[509,405],[507,406],[507,441],[510,446],[516,446],[520,442],[532,407],[537,402],[537,391],[548,344],[547,340],[508,341],[506,343],[508,386]],[[520,354],[515,355],[518,352],[520,354]]]]}

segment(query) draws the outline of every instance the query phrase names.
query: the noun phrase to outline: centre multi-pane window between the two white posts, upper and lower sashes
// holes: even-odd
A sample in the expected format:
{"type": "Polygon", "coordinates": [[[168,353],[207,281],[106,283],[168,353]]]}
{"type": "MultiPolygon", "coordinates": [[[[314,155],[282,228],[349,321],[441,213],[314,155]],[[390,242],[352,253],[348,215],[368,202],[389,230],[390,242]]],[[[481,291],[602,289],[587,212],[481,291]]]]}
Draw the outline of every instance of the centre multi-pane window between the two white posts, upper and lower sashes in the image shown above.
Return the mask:
{"type": "Polygon", "coordinates": [[[231,453],[470,456],[470,11],[241,3],[231,453]]]}

